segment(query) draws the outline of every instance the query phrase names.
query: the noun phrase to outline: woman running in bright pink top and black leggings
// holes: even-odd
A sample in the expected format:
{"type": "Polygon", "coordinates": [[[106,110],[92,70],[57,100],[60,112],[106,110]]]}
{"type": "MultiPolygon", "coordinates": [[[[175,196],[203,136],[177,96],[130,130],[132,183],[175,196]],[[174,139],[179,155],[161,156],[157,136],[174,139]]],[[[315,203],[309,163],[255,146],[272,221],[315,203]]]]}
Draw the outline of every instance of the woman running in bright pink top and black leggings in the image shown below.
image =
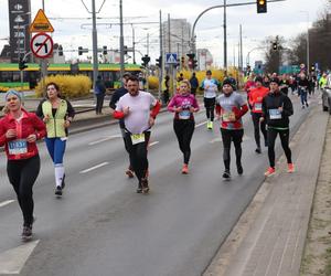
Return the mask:
{"type": "Polygon", "coordinates": [[[191,157],[191,139],[194,132],[193,113],[199,112],[199,105],[193,94],[190,94],[191,85],[188,79],[180,84],[179,94],[170,100],[168,110],[175,113],[173,118],[173,130],[179,141],[180,150],[183,152],[182,173],[189,173],[189,161],[191,157]]]}

